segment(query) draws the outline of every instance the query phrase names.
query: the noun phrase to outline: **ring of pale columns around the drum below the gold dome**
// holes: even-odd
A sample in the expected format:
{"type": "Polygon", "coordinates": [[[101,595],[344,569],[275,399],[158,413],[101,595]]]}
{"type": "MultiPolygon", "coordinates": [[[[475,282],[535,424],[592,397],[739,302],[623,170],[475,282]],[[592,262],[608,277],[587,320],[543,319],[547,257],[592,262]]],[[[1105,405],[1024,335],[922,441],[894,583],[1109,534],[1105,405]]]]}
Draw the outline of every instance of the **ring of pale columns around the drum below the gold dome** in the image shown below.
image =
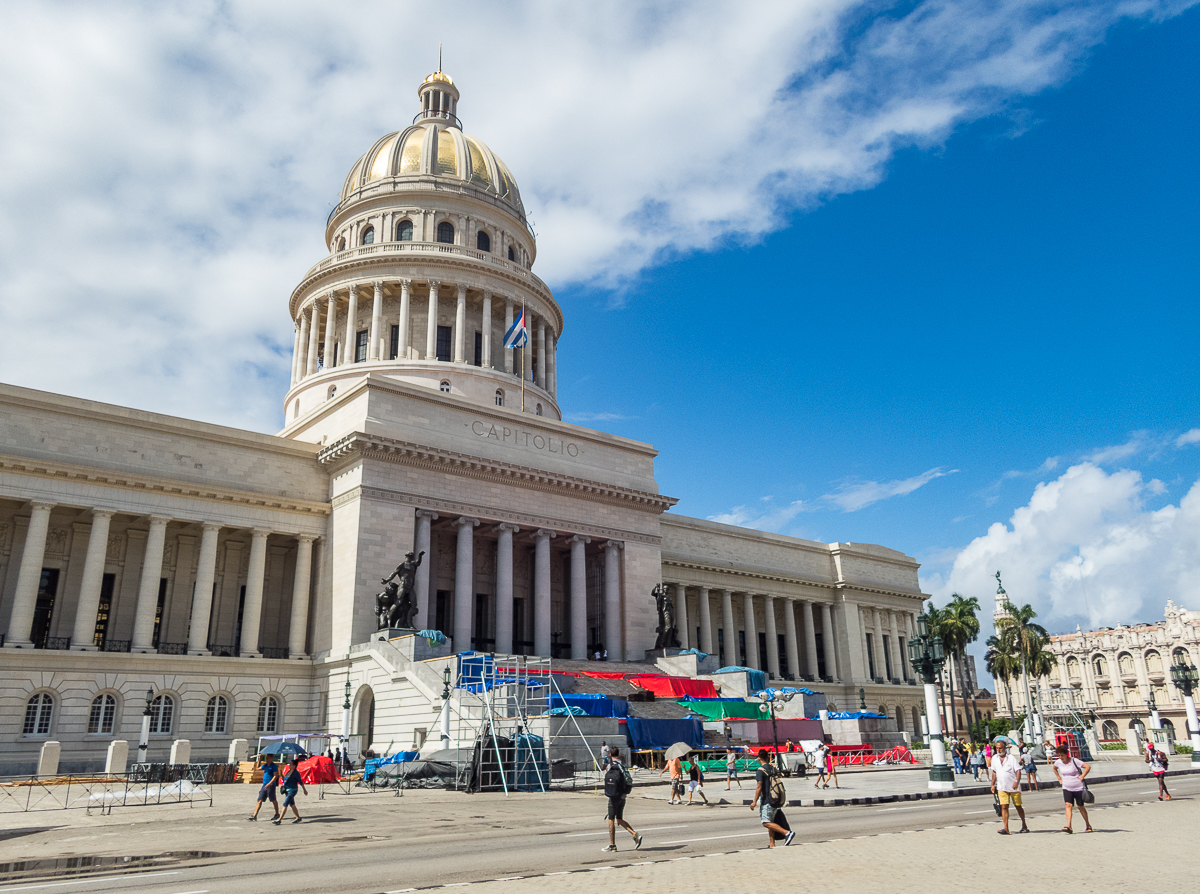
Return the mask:
{"type": "MultiPolygon", "coordinates": [[[[451,362],[474,365],[474,358],[468,358],[467,331],[468,320],[468,287],[463,283],[443,283],[437,280],[419,281],[418,284],[426,287],[426,325],[424,332],[424,352],[420,350],[421,332],[415,332],[413,326],[413,312],[415,310],[413,295],[413,280],[400,280],[395,283],[400,287],[400,305],[392,314],[384,313],[384,281],[377,280],[371,283],[352,284],[343,298],[337,292],[313,298],[301,307],[298,314],[295,332],[295,346],[292,364],[292,384],[295,385],[304,378],[312,376],[320,368],[328,368],[336,354],[337,366],[361,361],[386,361],[398,360],[437,360],[438,359],[438,306],[444,294],[454,288],[455,314],[451,362]],[[371,294],[371,322],[366,331],[365,356],[359,358],[359,293],[360,290],[371,294]],[[343,310],[344,308],[344,310],[343,310]],[[344,332],[338,331],[338,312],[344,312],[344,332]],[[398,337],[396,342],[395,358],[391,352],[390,338],[391,326],[396,325],[398,337]],[[322,329],[324,326],[324,329],[322,329]],[[324,336],[324,352],[320,350],[322,336],[324,336]],[[341,336],[341,338],[338,337],[341,336]],[[319,361],[319,358],[324,358],[319,361]]],[[[512,325],[512,320],[520,312],[521,304],[517,298],[502,295],[487,289],[479,289],[480,306],[478,325],[482,334],[480,366],[493,367],[493,325],[496,323],[493,304],[504,302],[504,330],[506,332],[512,325]]],[[[418,296],[416,300],[420,300],[418,296]]],[[[536,364],[526,362],[523,370],[516,370],[514,349],[500,348],[503,354],[503,370],[509,374],[523,374],[527,380],[533,382],[551,396],[558,391],[557,385],[557,346],[553,328],[545,317],[536,316],[526,308],[529,326],[528,354],[536,356],[536,364]]],[[[502,332],[502,337],[503,337],[502,332]]],[[[469,347],[474,352],[474,346],[469,347]]]]}

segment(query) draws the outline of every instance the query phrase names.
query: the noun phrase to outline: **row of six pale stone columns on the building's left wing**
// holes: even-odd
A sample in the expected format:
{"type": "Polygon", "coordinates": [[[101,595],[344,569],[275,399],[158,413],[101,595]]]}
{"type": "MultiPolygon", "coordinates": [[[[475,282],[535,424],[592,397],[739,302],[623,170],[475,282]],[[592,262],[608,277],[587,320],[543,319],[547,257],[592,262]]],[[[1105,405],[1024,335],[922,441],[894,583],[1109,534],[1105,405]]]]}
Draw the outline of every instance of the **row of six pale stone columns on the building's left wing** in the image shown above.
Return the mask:
{"type": "MultiPolygon", "coordinates": [[[[50,512],[54,508],[55,504],[53,503],[35,500],[31,504],[29,527],[25,532],[25,545],[20,553],[17,586],[13,593],[12,613],[5,636],[5,647],[31,648],[34,644],[31,640],[34,614],[37,606],[37,590],[42,577],[42,564],[46,558],[50,512]]],[[[83,562],[74,626],[70,641],[70,648],[77,652],[96,649],[92,637],[108,556],[109,527],[114,515],[116,515],[116,511],[110,509],[91,510],[91,530],[88,534],[88,548],[83,562]]],[[[144,653],[157,650],[154,643],[155,614],[158,608],[158,587],[163,569],[167,526],[173,521],[176,520],[166,515],[150,516],[150,529],[145,536],[145,548],[138,582],[130,652],[144,653]]],[[[194,595],[191,605],[191,624],[187,642],[187,654],[190,655],[208,654],[209,619],[212,613],[212,604],[216,599],[214,583],[216,581],[217,538],[224,527],[220,522],[203,522],[200,524],[199,556],[196,566],[194,595]]],[[[266,541],[272,533],[276,532],[268,528],[251,529],[241,637],[236,643],[242,658],[263,656],[259,650],[259,626],[263,617],[263,589],[266,577],[266,541]]],[[[288,655],[290,658],[301,658],[305,654],[305,643],[308,635],[312,545],[317,538],[312,534],[293,534],[288,536],[294,536],[296,540],[292,614],[288,630],[288,655]]]]}

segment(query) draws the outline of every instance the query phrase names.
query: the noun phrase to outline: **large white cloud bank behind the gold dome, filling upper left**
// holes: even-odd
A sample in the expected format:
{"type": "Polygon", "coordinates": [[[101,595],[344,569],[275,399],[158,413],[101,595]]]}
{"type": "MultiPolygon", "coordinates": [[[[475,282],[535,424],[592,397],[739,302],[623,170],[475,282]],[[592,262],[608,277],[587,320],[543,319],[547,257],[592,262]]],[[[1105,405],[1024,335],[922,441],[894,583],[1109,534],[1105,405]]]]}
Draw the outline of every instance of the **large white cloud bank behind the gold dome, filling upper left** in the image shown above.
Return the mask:
{"type": "Polygon", "coordinates": [[[436,41],[538,272],[606,286],[868,188],[898,146],[1066,80],[1112,23],[1187,5],[468,2],[450,28],[382,0],[7,4],[0,380],[275,427],[287,296],[436,41]]]}

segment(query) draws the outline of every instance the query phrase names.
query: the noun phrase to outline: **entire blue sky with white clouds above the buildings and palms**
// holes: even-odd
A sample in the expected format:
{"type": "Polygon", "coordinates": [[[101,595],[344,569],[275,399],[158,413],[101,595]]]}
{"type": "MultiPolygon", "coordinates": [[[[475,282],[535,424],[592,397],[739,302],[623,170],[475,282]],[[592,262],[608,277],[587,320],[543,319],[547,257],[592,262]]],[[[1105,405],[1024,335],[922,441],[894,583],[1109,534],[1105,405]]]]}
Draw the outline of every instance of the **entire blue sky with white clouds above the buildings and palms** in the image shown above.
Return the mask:
{"type": "Polygon", "coordinates": [[[5,5],[0,380],[277,431],[288,295],[442,43],[565,419],[677,511],[900,550],[982,638],[997,570],[1055,632],[1200,610],[1195,4],[455,10],[5,5]]]}

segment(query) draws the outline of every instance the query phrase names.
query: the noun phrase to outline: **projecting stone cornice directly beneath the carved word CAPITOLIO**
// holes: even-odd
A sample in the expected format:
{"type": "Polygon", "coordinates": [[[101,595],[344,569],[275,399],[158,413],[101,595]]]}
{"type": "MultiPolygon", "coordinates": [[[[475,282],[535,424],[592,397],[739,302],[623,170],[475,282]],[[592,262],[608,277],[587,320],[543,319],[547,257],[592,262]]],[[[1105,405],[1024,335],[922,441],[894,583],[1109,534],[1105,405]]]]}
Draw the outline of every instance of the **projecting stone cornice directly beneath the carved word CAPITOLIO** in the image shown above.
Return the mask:
{"type": "Polygon", "coordinates": [[[532,466],[487,460],[482,456],[460,454],[454,450],[443,450],[425,444],[366,434],[365,432],[353,432],[334,442],[317,455],[317,460],[326,466],[340,466],[356,456],[365,460],[450,473],[480,481],[584,498],[595,503],[629,506],[643,512],[665,512],[678,502],[673,497],[664,497],[649,491],[619,487],[602,481],[547,472],[532,466]]]}

